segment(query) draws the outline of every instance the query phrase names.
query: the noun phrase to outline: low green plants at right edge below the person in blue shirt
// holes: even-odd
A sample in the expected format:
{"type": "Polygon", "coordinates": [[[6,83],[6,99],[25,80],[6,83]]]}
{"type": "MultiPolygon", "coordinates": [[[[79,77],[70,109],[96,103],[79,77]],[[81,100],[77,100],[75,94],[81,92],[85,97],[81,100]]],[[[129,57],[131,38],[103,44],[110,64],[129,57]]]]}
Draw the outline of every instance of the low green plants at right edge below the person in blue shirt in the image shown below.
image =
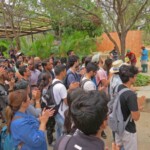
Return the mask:
{"type": "Polygon", "coordinates": [[[135,82],[135,86],[146,86],[150,83],[150,76],[138,74],[135,82]]]}

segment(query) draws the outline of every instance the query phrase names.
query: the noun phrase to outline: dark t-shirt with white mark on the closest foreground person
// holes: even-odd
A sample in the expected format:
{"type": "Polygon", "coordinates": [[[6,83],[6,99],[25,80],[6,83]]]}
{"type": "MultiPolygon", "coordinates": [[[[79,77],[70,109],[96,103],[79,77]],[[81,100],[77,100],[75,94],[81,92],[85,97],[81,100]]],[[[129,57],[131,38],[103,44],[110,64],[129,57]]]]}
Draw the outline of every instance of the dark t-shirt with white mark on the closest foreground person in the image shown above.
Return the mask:
{"type": "MultiPolygon", "coordinates": [[[[56,145],[60,142],[58,140],[56,145]]],[[[54,147],[54,150],[58,150],[54,147]]],[[[84,133],[80,132],[79,130],[70,138],[68,141],[65,150],[104,150],[104,142],[95,137],[95,136],[87,136],[84,133]]]]}

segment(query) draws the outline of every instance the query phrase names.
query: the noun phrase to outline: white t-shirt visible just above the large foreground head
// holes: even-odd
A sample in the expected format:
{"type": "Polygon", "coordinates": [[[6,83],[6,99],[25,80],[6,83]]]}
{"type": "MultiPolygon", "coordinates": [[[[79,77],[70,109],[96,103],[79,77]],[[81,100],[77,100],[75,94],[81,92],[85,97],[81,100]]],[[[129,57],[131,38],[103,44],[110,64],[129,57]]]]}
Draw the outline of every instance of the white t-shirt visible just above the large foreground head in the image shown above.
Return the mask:
{"type": "MultiPolygon", "coordinates": [[[[83,77],[82,78],[82,81],[86,80],[87,78],[86,77],[83,77]]],[[[83,85],[83,89],[84,91],[92,91],[92,90],[96,90],[96,86],[95,84],[93,83],[92,80],[90,81],[86,81],[83,85]]]]}

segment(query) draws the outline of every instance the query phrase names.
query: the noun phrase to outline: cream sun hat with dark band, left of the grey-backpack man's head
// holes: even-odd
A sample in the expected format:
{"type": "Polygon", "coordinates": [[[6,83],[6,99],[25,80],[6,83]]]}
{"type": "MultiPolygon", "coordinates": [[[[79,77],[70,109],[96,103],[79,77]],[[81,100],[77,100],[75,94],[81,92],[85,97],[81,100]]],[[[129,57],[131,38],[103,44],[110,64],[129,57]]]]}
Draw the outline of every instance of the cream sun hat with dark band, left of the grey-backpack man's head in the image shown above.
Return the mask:
{"type": "Polygon", "coordinates": [[[119,59],[119,60],[116,60],[112,63],[112,67],[110,68],[109,72],[110,73],[117,73],[119,72],[119,68],[124,64],[124,62],[119,59]]]}

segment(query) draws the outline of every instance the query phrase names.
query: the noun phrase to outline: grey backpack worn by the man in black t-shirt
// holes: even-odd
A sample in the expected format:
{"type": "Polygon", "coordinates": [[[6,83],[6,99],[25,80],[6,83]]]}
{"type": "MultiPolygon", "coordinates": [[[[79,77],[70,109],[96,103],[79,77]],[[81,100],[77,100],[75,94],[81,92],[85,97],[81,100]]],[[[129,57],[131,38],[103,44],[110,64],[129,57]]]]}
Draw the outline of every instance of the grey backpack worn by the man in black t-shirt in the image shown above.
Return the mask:
{"type": "Polygon", "coordinates": [[[129,89],[124,88],[118,92],[118,87],[119,85],[115,89],[113,98],[108,103],[108,110],[109,110],[108,126],[111,128],[112,131],[121,136],[125,130],[128,121],[131,118],[131,115],[129,115],[127,120],[124,121],[120,104],[120,96],[124,92],[129,91],[129,89]]]}

